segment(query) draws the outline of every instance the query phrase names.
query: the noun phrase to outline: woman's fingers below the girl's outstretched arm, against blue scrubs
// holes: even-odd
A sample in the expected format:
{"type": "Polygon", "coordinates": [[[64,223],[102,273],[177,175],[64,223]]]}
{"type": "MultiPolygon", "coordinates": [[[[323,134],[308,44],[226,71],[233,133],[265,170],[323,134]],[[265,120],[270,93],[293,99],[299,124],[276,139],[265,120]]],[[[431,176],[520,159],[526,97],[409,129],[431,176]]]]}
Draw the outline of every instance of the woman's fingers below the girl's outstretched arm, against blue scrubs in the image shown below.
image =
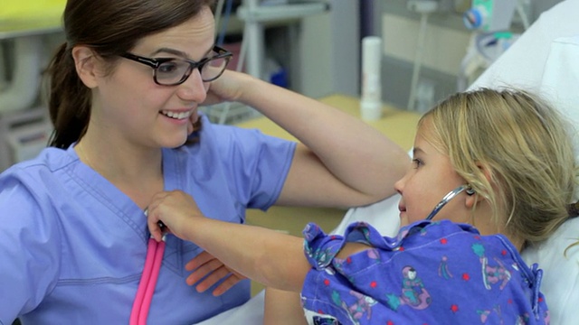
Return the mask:
{"type": "Polygon", "coordinates": [[[223,283],[220,283],[214,289],[214,296],[222,295],[231,289],[233,285],[243,279],[247,279],[247,277],[235,272],[215,258],[214,255],[207,252],[196,255],[194,259],[185,265],[185,270],[193,271],[192,274],[187,276],[186,282],[189,285],[195,284],[197,292],[204,292],[224,279],[223,283]],[[203,281],[201,281],[202,279],[203,281]]]}

